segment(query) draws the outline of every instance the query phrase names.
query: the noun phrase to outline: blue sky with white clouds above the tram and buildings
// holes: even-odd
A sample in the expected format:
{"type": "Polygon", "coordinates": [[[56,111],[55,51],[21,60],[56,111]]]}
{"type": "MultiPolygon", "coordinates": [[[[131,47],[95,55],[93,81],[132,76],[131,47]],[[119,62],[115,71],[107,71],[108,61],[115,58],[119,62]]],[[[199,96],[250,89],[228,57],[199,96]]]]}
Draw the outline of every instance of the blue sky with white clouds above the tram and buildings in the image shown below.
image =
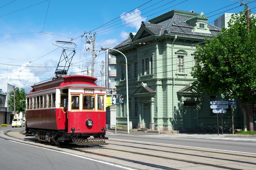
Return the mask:
{"type": "MultiPolygon", "coordinates": [[[[77,48],[69,72],[83,75],[85,72],[81,71],[86,66],[91,68],[91,52],[85,48],[92,45],[84,43],[82,33],[96,33],[96,49],[113,47],[128,38],[130,32],[136,32],[141,21],[147,22],[173,9],[204,12],[214,25],[213,21],[224,13],[243,11],[239,5],[231,0],[1,0],[0,82],[15,84],[28,92],[34,83],[50,79],[62,52],[52,45],[55,40],[76,38],[72,41],[77,48]],[[109,25],[100,27],[106,23],[109,25]]],[[[249,6],[256,7],[256,2],[249,6]]],[[[253,13],[255,10],[252,9],[253,13]]],[[[95,77],[99,82],[102,60],[104,51],[97,52],[95,77]]]]}

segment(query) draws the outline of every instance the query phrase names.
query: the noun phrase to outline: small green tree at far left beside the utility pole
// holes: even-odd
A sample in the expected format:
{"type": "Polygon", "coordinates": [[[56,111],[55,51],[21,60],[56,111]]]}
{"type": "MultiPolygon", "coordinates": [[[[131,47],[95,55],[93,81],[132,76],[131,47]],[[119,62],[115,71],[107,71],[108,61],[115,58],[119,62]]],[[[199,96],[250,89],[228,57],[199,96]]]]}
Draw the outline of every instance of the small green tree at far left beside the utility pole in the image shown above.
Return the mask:
{"type": "MultiPolygon", "coordinates": [[[[14,91],[10,91],[10,98],[8,100],[9,108],[14,109],[14,91]]],[[[26,110],[26,93],[24,88],[15,88],[15,113],[25,112],[26,110]],[[20,106],[20,101],[22,105],[20,106]]]]}

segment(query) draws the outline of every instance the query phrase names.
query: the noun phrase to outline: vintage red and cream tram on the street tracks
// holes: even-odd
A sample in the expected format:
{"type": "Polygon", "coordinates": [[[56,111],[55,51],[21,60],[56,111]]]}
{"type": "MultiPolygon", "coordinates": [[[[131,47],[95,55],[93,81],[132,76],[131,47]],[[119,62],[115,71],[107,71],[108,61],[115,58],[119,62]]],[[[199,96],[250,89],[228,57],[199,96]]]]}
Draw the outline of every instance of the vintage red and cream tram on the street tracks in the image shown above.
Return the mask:
{"type": "Polygon", "coordinates": [[[36,141],[107,144],[106,88],[83,75],[32,86],[26,95],[26,133],[36,141]]]}

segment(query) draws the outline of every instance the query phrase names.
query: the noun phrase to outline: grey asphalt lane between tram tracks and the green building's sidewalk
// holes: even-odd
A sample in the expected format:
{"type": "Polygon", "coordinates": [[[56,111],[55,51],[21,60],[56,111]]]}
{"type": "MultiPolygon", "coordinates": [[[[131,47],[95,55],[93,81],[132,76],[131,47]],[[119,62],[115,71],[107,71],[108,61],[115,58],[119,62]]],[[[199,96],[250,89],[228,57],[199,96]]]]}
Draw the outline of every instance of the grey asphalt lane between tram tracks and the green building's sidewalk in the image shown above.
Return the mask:
{"type": "MultiPolygon", "coordinates": [[[[186,135],[152,135],[134,132],[131,135],[124,134],[123,132],[106,135],[109,139],[123,139],[131,141],[143,141],[158,144],[172,144],[178,146],[190,146],[199,148],[210,148],[216,150],[228,150],[234,152],[247,152],[256,154],[256,140],[254,141],[243,141],[243,140],[231,140],[232,137],[223,138],[221,135],[217,139],[210,139],[210,137],[199,137],[198,135],[192,135],[187,137],[186,135]],[[132,134],[137,135],[132,135],[132,134]],[[219,138],[219,139],[218,139],[219,138]],[[231,138],[231,139],[229,139],[231,138]]],[[[235,137],[238,138],[238,137],[235,137]]],[[[246,139],[256,139],[256,137],[239,137],[246,139]]]]}

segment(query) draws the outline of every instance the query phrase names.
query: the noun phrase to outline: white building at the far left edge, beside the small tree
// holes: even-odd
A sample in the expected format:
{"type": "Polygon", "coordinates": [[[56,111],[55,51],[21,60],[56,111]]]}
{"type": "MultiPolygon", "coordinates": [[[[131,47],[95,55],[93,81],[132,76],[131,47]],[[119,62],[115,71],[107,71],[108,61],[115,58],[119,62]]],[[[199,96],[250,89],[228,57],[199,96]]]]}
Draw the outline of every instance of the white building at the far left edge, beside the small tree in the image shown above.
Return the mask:
{"type": "Polygon", "coordinates": [[[9,92],[13,91],[14,86],[8,83],[0,84],[0,124],[11,124],[13,120],[13,110],[9,109],[9,92]]]}

